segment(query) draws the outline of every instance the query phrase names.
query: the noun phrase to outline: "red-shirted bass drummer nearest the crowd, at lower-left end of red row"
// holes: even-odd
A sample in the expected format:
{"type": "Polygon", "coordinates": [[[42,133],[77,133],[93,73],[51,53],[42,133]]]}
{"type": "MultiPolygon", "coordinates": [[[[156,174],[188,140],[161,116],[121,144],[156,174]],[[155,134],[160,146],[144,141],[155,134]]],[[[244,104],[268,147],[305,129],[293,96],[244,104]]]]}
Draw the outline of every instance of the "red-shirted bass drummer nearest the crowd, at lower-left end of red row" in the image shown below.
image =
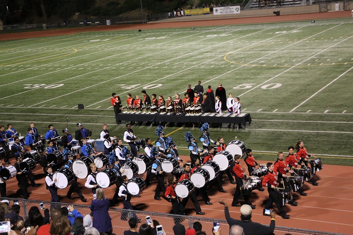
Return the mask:
{"type": "MultiPolygon", "coordinates": [[[[171,206],[173,207],[173,214],[182,215],[184,214],[184,206],[178,199],[177,194],[175,194],[175,183],[177,183],[177,178],[175,177],[175,175],[169,175],[168,186],[165,188],[164,196],[166,199],[170,200],[171,206]]],[[[174,222],[179,223],[177,217],[174,217],[174,222]]]]}

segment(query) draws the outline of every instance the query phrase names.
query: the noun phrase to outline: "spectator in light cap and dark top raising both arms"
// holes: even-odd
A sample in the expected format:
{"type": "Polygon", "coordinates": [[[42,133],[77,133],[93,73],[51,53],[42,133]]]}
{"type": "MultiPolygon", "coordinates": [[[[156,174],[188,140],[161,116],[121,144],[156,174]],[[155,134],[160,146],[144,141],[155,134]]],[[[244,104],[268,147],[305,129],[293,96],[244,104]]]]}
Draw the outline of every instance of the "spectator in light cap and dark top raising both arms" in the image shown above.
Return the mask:
{"type": "Polygon", "coordinates": [[[273,211],[270,212],[270,217],[271,217],[270,226],[265,226],[260,223],[251,221],[252,208],[249,205],[244,204],[240,208],[241,220],[237,220],[230,217],[228,204],[225,201],[218,200],[218,202],[224,205],[224,215],[225,215],[225,219],[229,224],[229,227],[231,227],[232,225],[239,225],[244,229],[244,233],[247,235],[273,234],[274,227],[275,227],[275,216],[276,216],[276,214],[273,211]]]}

